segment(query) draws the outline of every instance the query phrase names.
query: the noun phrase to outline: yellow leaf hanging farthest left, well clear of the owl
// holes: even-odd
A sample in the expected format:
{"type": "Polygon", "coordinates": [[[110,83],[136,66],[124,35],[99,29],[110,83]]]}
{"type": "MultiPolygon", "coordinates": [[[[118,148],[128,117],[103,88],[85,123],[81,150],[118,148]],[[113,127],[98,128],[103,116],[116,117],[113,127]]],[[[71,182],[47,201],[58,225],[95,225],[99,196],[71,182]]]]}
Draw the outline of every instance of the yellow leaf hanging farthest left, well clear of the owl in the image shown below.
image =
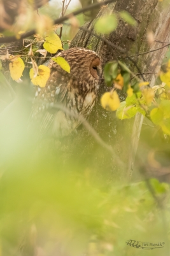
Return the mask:
{"type": "Polygon", "coordinates": [[[18,80],[24,71],[25,65],[21,58],[17,58],[9,64],[10,75],[13,80],[18,80]]]}

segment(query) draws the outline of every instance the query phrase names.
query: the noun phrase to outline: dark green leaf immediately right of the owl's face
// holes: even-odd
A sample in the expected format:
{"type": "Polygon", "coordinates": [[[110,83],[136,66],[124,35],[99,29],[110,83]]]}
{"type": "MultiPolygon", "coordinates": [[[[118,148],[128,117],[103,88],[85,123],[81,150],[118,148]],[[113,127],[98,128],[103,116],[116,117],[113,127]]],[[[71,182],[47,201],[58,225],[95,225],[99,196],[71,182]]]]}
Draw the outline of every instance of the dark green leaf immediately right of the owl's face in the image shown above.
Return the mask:
{"type": "Polygon", "coordinates": [[[117,78],[118,75],[118,63],[117,62],[108,62],[104,66],[104,80],[106,85],[113,85],[113,80],[117,78]]]}

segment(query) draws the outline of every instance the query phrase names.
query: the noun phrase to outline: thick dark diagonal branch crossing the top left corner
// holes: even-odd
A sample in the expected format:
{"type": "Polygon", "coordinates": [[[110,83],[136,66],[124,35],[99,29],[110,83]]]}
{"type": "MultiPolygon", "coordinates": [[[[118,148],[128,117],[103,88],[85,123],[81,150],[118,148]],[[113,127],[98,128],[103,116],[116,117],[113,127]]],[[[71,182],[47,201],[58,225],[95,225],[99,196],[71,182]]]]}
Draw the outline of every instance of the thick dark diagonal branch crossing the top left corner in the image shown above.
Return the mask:
{"type": "MultiPolygon", "coordinates": [[[[72,13],[69,13],[68,15],[66,15],[64,17],[57,18],[56,20],[54,20],[53,24],[61,24],[64,21],[69,20],[69,18],[72,17],[72,16],[79,15],[80,13],[83,13],[85,11],[90,11],[90,10],[96,9],[99,6],[102,6],[104,4],[113,3],[115,1],[116,0],[101,1],[100,3],[92,4],[92,5],[87,6],[85,8],[81,8],[80,10],[73,11],[72,13]]],[[[25,32],[24,34],[21,34],[20,38],[17,38],[16,36],[8,36],[8,37],[0,38],[0,43],[11,43],[11,42],[14,42],[14,41],[18,41],[19,39],[28,38],[29,36],[32,36],[33,34],[36,34],[35,29],[32,29],[31,31],[25,32]]]]}

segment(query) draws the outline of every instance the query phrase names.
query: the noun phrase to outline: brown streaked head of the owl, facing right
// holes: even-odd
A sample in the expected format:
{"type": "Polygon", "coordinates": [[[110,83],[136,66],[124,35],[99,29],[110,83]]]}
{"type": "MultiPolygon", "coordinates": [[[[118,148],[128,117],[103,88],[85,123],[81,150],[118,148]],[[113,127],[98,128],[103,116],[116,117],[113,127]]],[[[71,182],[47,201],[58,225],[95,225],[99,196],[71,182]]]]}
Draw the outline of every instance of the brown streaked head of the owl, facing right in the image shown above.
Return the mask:
{"type": "MultiPolygon", "coordinates": [[[[70,66],[71,78],[75,80],[99,80],[101,76],[101,60],[96,52],[85,48],[70,48],[69,50],[60,52],[56,57],[63,57],[70,66]]],[[[53,63],[60,72],[68,75],[59,65],[53,63]]]]}

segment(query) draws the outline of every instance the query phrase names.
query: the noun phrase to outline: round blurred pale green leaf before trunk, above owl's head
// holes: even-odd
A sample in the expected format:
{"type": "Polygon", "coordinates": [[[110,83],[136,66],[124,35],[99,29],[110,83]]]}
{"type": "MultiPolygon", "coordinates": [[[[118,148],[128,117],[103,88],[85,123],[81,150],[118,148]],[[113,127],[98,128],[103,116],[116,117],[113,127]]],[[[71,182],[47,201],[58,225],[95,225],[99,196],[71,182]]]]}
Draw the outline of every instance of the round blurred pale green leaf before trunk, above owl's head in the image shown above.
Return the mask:
{"type": "Polygon", "coordinates": [[[117,28],[117,17],[116,15],[107,15],[99,18],[94,25],[96,32],[101,34],[110,34],[117,28]]]}

